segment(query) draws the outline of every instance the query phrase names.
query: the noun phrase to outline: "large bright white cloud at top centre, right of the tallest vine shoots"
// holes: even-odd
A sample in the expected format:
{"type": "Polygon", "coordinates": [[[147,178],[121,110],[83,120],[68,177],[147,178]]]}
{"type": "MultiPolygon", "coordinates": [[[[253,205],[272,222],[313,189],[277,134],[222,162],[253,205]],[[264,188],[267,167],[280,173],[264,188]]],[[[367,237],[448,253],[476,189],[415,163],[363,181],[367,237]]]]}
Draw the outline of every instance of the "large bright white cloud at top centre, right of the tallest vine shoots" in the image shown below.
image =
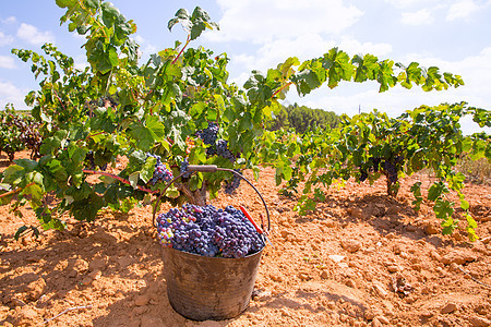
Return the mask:
{"type": "Polygon", "coordinates": [[[298,38],[306,34],[339,34],[363,14],[343,0],[218,0],[224,16],[215,41],[252,41],[298,38]]]}

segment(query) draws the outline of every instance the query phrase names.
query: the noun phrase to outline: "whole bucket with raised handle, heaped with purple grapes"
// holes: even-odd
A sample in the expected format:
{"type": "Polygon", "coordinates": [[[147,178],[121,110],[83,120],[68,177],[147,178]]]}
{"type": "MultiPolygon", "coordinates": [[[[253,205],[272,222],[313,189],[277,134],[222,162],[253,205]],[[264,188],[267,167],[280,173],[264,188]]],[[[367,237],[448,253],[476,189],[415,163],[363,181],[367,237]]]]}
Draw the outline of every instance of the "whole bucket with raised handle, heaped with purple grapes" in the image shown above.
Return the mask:
{"type": "Polygon", "coordinates": [[[238,174],[254,189],[266,209],[267,230],[264,223],[260,229],[243,207],[232,206],[219,209],[185,204],[158,215],[154,221],[163,244],[167,295],[173,310],[193,320],[229,319],[249,305],[271,228],[270,213],[261,193],[233,170],[209,165],[190,165],[188,169],[238,174]]]}

